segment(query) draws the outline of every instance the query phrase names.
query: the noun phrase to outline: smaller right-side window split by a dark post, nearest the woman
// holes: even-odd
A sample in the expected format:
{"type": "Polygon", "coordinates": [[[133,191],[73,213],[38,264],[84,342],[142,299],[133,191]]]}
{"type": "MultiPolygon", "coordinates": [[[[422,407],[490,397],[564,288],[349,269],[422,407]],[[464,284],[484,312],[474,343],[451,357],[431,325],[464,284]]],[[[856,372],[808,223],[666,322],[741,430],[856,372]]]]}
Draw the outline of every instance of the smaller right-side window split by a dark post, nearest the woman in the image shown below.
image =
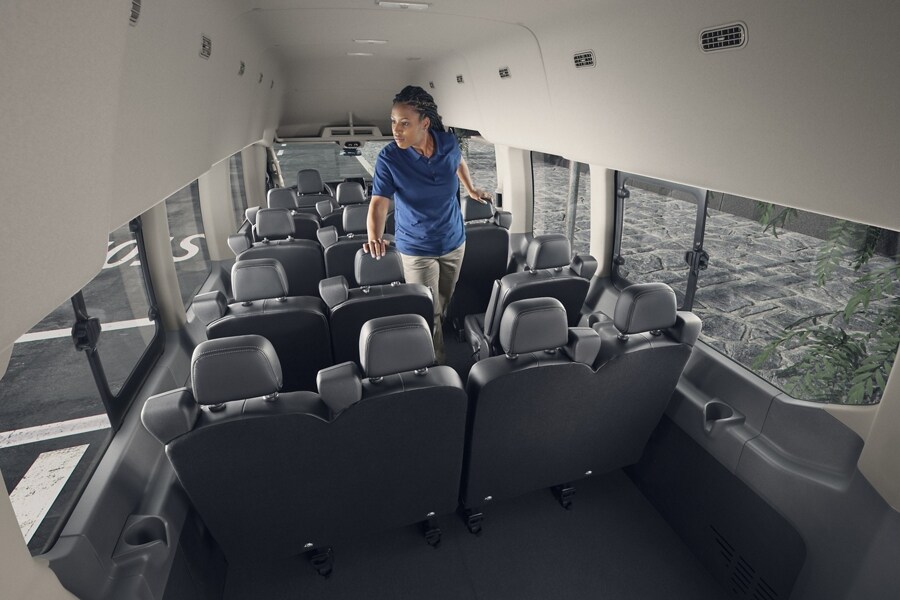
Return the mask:
{"type": "MultiPolygon", "coordinates": [[[[567,233],[570,161],[542,152],[531,153],[534,175],[534,235],[567,233]]],[[[572,251],[589,254],[591,247],[591,171],[590,166],[574,163],[578,168],[578,191],[575,205],[575,234],[572,251]]]]}

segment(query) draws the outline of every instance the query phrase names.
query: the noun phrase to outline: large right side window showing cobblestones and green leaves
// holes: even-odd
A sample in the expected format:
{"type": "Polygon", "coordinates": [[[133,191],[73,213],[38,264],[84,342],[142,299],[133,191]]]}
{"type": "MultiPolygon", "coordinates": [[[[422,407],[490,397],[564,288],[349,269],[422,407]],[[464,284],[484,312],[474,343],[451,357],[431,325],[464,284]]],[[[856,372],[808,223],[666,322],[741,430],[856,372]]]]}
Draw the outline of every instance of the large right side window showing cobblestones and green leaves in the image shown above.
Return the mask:
{"type": "Polygon", "coordinates": [[[900,345],[897,232],[628,177],[618,276],[669,284],[702,341],[794,398],[881,399],[900,345]],[[692,248],[708,255],[694,273],[692,248]]]}

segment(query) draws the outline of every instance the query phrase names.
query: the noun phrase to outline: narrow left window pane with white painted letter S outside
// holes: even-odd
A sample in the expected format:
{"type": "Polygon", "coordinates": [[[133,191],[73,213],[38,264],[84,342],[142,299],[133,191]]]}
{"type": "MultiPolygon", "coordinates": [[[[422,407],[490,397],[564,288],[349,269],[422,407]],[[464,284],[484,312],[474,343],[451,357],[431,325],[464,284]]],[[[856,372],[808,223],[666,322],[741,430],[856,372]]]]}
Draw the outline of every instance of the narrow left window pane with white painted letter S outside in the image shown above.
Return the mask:
{"type": "Polygon", "coordinates": [[[175,274],[181,287],[181,300],[187,307],[212,269],[203,233],[200,187],[197,181],[166,199],[166,213],[169,217],[175,274]]]}

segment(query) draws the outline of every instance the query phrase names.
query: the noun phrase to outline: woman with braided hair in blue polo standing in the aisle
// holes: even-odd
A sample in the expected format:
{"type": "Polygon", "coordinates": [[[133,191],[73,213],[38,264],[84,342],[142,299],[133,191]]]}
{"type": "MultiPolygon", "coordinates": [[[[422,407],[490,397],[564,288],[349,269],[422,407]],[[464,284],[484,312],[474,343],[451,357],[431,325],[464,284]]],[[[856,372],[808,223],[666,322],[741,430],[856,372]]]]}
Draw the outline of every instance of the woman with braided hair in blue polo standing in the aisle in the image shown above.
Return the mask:
{"type": "Polygon", "coordinates": [[[393,197],[394,244],[406,281],[427,285],[434,293],[434,351],[442,363],[441,314],[453,295],[466,249],[456,197],[459,182],[479,202],[491,197],[472,183],[456,136],[444,131],[431,94],[409,85],[394,96],[391,130],[394,142],[384,147],[375,163],[369,241],[363,250],[375,258],[384,254],[388,245],[384,222],[393,197]]]}

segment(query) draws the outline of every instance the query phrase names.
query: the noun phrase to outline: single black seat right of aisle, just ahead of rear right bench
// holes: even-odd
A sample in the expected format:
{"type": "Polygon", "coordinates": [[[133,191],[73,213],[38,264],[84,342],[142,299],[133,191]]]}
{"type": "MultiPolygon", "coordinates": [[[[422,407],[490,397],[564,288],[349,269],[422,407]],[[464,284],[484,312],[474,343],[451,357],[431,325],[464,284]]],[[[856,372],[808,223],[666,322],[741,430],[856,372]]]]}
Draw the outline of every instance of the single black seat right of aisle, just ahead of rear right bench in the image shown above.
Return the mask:
{"type": "Polygon", "coordinates": [[[494,282],[487,311],[466,316],[465,331],[476,360],[501,353],[500,318],[516,300],[549,297],[566,309],[570,327],[578,325],[590,279],[597,270],[594,257],[571,254],[568,238],[562,234],[536,236],[528,244],[526,268],[494,282]]]}

